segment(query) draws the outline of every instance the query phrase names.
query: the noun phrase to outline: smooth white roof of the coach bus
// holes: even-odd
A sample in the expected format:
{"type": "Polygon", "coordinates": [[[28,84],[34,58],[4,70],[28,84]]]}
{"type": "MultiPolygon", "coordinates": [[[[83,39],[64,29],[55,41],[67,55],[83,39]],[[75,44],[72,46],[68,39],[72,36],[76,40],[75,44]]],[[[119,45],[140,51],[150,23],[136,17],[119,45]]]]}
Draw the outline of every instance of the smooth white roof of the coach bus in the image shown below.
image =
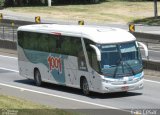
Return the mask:
{"type": "Polygon", "coordinates": [[[99,44],[122,43],[136,40],[136,38],[126,30],[86,25],[35,24],[21,26],[18,28],[18,31],[82,36],[99,44]]]}

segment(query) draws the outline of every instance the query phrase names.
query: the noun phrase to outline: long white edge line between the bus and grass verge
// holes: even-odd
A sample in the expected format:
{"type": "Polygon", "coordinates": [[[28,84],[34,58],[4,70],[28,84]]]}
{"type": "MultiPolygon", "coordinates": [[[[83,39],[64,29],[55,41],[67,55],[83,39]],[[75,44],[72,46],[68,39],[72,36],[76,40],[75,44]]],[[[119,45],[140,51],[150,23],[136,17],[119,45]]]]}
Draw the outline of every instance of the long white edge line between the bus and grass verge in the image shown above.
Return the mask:
{"type": "Polygon", "coordinates": [[[98,106],[98,107],[103,107],[103,108],[107,108],[107,109],[115,109],[115,110],[120,110],[120,111],[124,111],[124,112],[130,112],[130,111],[122,110],[122,109],[120,109],[120,108],[116,108],[116,107],[112,107],[112,106],[97,104],[97,103],[93,103],[93,102],[87,102],[87,101],[80,100],[80,99],[75,99],[75,98],[70,98],[70,97],[64,97],[64,96],[55,95],[55,94],[50,94],[50,93],[46,93],[46,92],[31,90],[31,89],[22,88],[22,87],[17,87],[17,86],[13,86],[13,85],[9,85],[9,84],[0,83],[0,85],[1,85],[1,86],[6,86],[6,87],[10,87],[10,88],[19,89],[20,91],[28,91],[28,92],[32,92],[32,93],[38,93],[38,94],[42,94],[42,95],[47,95],[47,96],[62,98],[62,99],[71,100],[71,101],[76,101],[76,102],[80,102],[80,103],[84,103],[84,104],[89,104],[89,105],[94,105],[94,106],[98,106]]]}

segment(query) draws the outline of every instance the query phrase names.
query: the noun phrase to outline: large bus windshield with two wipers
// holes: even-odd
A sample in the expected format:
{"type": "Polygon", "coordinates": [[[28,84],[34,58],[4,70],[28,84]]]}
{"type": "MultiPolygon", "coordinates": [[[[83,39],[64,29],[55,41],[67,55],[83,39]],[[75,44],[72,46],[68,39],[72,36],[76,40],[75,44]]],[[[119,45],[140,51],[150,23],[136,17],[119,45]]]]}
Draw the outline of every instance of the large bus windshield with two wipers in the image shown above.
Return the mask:
{"type": "Polygon", "coordinates": [[[142,72],[142,59],[136,42],[98,45],[101,72],[107,77],[121,78],[142,72]]]}

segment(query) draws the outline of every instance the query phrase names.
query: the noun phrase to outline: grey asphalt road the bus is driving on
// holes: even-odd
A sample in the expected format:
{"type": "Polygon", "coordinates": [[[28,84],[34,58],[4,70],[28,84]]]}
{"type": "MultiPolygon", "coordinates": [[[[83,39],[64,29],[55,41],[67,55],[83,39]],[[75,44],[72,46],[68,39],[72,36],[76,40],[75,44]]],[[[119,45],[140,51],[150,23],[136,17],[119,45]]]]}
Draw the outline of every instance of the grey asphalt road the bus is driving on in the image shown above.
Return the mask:
{"type": "MultiPolygon", "coordinates": [[[[35,103],[54,106],[62,109],[72,109],[94,114],[123,115],[140,110],[160,109],[160,79],[144,80],[144,89],[128,93],[97,94],[83,96],[81,91],[52,84],[43,87],[34,85],[33,80],[27,80],[18,73],[17,58],[0,55],[0,94],[24,98],[35,103]],[[126,112],[127,111],[127,112],[126,112]]],[[[153,110],[152,110],[153,111],[153,110]]],[[[156,114],[160,111],[156,110],[156,114]]]]}

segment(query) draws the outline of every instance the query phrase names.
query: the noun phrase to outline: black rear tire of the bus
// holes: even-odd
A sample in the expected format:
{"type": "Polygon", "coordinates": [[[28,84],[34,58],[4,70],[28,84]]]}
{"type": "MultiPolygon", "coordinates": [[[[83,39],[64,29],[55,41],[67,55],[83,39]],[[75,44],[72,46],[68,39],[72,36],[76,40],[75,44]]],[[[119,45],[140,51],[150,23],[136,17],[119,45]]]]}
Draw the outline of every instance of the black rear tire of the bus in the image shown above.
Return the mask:
{"type": "Polygon", "coordinates": [[[39,70],[35,70],[34,72],[34,81],[35,81],[36,86],[42,85],[42,79],[41,79],[41,74],[39,70]]]}

